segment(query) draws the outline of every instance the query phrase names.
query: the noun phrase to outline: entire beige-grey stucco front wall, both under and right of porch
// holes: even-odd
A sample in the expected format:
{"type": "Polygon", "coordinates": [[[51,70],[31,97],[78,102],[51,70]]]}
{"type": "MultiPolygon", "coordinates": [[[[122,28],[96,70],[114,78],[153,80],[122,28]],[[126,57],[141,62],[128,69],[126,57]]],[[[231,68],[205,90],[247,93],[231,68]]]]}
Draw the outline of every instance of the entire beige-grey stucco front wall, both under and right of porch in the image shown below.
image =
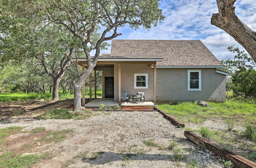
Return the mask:
{"type": "MultiPolygon", "coordinates": [[[[214,68],[201,69],[201,91],[187,90],[187,70],[193,68],[157,68],[157,101],[214,100],[225,101],[226,76],[214,68]]],[[[198,68],[194,68],[198,69],[198,68]]],[[[114,98],[118,101],[118,66],[114,65],[114,98]]],[[[144,92],[146,101],[153,101],[154,69],[147,64],[121,65],[121,92],[144,92]],[[148,74],[148,89],[134,89],[134,74],[148,74]]]]}

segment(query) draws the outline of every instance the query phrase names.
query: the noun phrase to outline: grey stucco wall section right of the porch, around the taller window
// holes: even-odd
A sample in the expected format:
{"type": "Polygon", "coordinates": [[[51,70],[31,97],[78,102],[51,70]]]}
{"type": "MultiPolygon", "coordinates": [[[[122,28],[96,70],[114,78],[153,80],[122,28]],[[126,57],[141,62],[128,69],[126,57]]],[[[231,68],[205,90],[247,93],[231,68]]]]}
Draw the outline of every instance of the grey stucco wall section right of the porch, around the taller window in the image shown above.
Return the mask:
{"type": "Polygon", "coordinates": [[[214,68],[203,68],[201,69],[201,91],[188,91],[187,70],[184,68],[157,68],[157,101],[225,101],[225,75],[216,73],[214,68]]]}

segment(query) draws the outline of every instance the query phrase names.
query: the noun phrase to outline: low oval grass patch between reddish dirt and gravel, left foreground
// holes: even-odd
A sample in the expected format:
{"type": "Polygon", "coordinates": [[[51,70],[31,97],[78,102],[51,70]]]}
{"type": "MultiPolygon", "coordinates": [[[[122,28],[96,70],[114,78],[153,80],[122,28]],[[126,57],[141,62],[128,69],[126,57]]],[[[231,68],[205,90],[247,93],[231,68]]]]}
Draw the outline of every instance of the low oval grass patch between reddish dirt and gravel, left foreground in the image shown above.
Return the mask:
{"type": "Polygon", "coordinates": [[[70,129],[65,129],[61,131],[49,131],[47,132],[46,136],[43,138],[38,139],[38,141],[44,142],[60,142],[67,137],[67,134],[72,132],[70,129]]]}

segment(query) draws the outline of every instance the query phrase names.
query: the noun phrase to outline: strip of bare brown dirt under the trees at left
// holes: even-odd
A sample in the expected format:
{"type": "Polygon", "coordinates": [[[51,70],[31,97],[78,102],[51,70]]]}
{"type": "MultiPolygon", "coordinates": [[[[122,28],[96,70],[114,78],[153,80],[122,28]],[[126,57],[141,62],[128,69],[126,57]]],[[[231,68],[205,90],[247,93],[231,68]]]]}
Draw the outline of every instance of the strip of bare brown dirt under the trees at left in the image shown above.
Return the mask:
{"type": "Polygon", "coordinates": [[[73,104],[73,99],[52,101],[18,101],[0,103],[0,120],[5,118],[35,118],[54,108],[65,108],[73,104]]]}

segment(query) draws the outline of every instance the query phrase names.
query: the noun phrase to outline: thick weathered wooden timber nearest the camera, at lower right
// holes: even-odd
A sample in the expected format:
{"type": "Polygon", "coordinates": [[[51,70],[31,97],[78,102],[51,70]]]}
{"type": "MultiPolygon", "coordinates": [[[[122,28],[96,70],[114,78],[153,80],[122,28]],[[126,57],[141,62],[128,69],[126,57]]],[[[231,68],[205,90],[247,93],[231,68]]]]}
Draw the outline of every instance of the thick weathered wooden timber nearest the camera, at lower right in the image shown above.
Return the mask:
{"type": "Polygon", "coordinates": [[[237,155],[208,139],[195,134],[193,131],[184,131],[184,136],[195,144],[214,152],[217,156],[230,160],[236,167],[251,168],[256,167],[256,164],[240,155],[237,155]]]}

